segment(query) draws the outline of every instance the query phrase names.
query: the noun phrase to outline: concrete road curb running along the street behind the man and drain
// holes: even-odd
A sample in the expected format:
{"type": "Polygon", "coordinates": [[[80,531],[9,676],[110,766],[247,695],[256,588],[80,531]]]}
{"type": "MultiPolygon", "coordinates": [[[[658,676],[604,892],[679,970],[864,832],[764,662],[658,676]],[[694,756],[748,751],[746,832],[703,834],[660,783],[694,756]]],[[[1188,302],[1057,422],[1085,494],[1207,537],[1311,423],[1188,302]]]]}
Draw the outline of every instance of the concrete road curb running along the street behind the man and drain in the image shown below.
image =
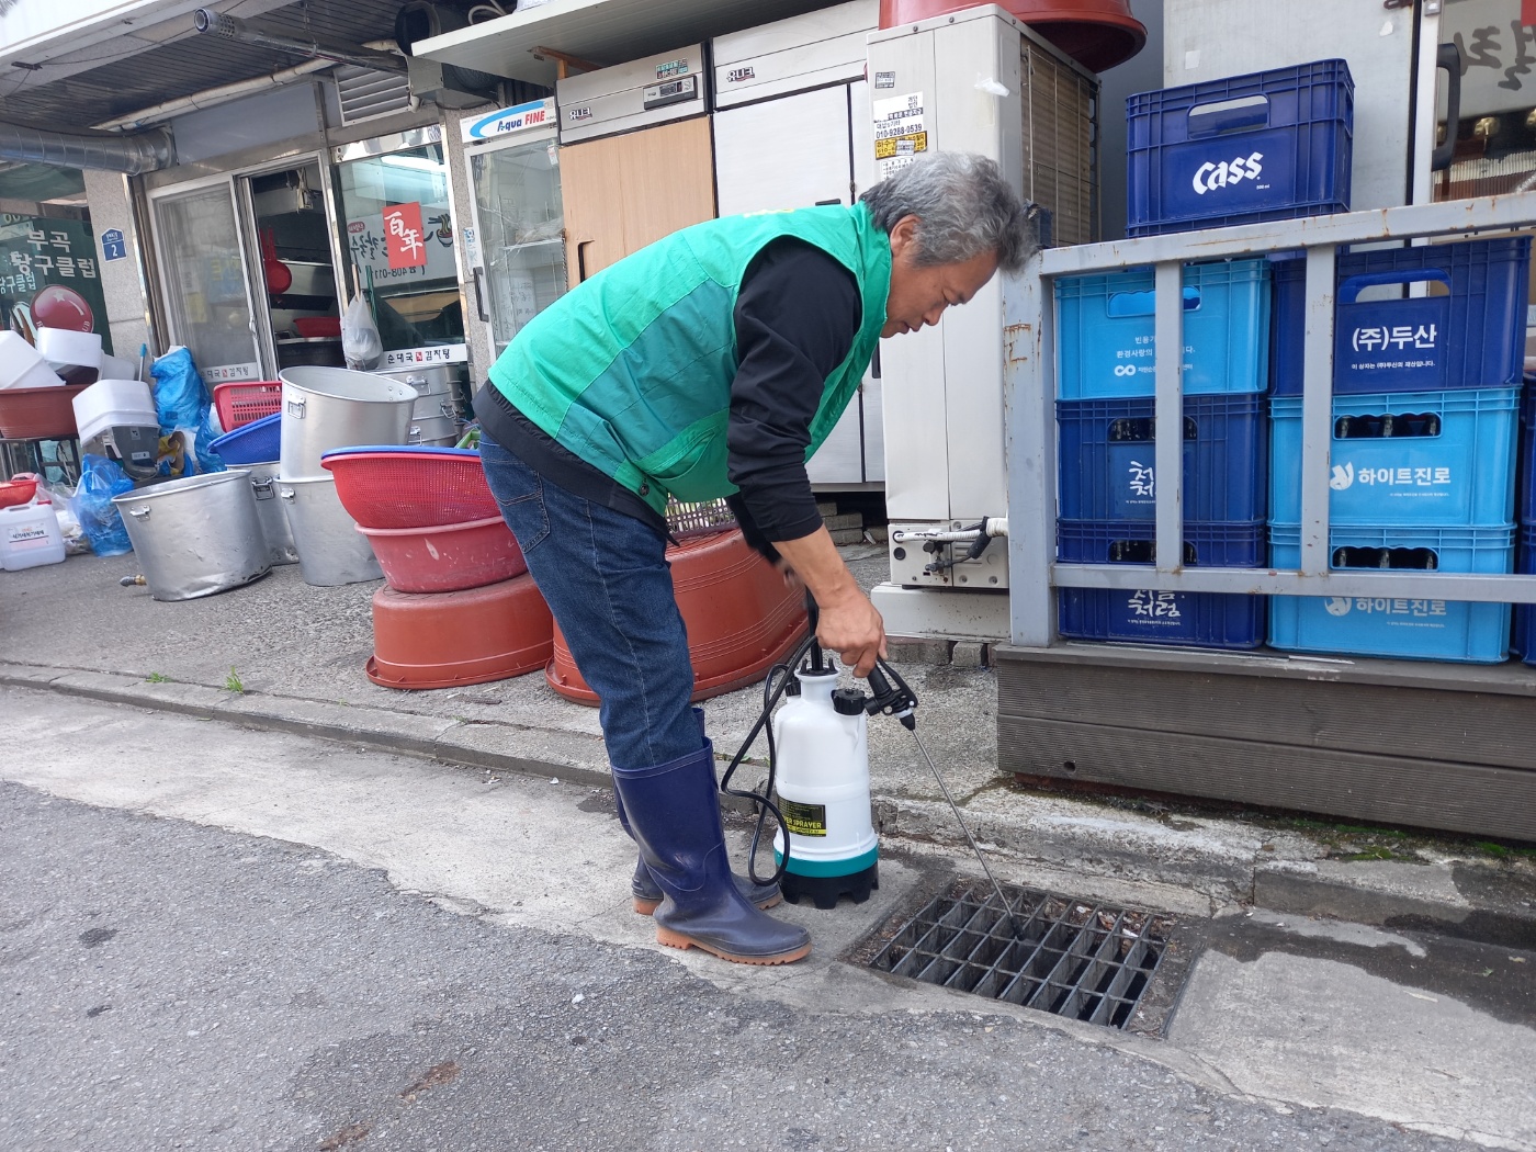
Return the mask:
{"type": "MultiPolygon", "coordinates": [[[[51,691],[247,728],[315,737],[376,751],[418,756],[464,768],[558,779],[608,788],[607,771],[562,759],[561,748],[601,740],[366,705],[233,693],[197,684],[146,682],[135,676],[0,664],[0,685],[51,691]],[[536,754],[507,743],[547,746],[536,754]]],[[[568,754],[568,753],[567,753],[568,754]]],[[[883,836],[914,846],[968,852],[948,805],[935,797],[874,797],[883,836]]],[[[722,806],[748,814],[745,802],[722,806]]],[[[1536,868],[1524,863],[1445,859],[1424,863],[1346,865],[1316,859],[1292,837],[1292,856],[1276,857],[1272,831],[1235,820],[1184,822],[1164,828],[1111,811],[1083,819],[1049,797],[985,793],[963,805],[972,834],[989,852],[1008,857],[1029,883],[1080,895],[1126,899],[1127,889],[1160,889],[1169,911],[1218,914],[1260,905],[1293,915],[1316,915],[1425,929],[1518,948],[1536,945],[1536,868]]],[[[1315,845],[1312,846],[1315,848],[1315,845]]]]}

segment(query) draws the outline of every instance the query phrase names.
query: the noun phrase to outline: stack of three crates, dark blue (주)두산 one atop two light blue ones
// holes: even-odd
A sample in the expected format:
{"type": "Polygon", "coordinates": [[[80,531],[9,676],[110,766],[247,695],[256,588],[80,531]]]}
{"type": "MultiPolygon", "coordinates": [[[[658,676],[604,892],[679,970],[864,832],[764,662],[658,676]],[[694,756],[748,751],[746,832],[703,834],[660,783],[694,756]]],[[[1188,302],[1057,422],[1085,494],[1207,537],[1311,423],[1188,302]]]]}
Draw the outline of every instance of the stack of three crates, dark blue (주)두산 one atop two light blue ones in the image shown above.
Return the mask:
{"type": "MultiPolygon", "coordinates": [[[[1508,573],[1530,238],[1339,252],[1329,565],[1508,573]]],[[[1275,264],[1270,553],[1301,561],[1304,261],[1275,264]]],[[[1496,664],[1510,605],[1276,596],[1290,651],[1496,664]]]]}

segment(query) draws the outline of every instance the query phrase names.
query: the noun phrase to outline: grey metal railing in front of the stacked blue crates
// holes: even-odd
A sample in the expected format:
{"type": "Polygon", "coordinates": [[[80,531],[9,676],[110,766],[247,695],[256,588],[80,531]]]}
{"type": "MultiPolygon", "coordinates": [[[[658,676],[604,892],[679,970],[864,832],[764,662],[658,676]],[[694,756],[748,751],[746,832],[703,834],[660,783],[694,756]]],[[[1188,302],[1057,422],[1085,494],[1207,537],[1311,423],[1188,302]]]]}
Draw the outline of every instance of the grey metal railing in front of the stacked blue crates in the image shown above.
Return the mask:
{"type": "Polygon", "coordinates": [[[1057,588],[1152,588],[1260,596],[1387,596],[1536,604],[1536,576],[1329,570],[1329,445],[1333,398],[1333,284],[1339,244],[1465,238],[1536,226],[1536,192],[1444,204],[1347,212],[1267,224],[1178,232],[1044,249],[1005,293],[1005,419],[1009,505],[1009,614],[1015,645],[1058,644],[1057,588]],[[1183,412],[1181,269],[1190,261],[1306,250],[1306,346],[1301,404],[1301,567],[1183,567],[1183,442],[1157,439],[1157,564],[1057,564],[1055,293],[1057,276],[1155,267],[1155,416],[1183,412]],[[1174,479],[1174,482],[1167,482],[1174,479]]]}

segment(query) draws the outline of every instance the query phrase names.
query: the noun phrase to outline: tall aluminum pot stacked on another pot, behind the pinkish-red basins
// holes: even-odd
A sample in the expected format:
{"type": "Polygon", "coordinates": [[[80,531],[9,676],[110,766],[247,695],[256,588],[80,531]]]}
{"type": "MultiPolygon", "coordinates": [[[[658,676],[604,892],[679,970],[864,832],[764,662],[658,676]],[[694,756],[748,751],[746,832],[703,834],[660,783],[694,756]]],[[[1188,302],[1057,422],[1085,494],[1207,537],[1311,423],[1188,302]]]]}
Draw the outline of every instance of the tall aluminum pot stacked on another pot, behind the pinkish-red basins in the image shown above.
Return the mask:
{"type": "MultiPolygon", "coordinates": [[[[284,479],[329,479],[319,458],[359,444],[404,444],[416,390],[350,369],[293,367],[283,381],[278,456],[284,479]]],[[[303,553],[304,542],[300,541],[303,553]]]]}

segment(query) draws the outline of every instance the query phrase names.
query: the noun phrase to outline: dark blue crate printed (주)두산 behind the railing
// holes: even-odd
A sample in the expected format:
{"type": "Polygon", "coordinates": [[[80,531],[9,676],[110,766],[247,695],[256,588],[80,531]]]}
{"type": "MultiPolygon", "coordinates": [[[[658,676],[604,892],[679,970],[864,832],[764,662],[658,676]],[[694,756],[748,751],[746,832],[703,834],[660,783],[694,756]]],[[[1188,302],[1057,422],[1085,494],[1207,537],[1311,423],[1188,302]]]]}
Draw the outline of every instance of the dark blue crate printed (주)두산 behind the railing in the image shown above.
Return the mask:
{"type": "MultiPolygon", "coordinates": [[[[1438,392],[1519,384],[1530,237],[1339,253],[1333,392],[1438,392]],[[1396,286],[1430,295],[1359,300],[1396,286]]],[[[1299,396],[1306,261],[1275,261],[1275,395],[1299,396]]]]}

